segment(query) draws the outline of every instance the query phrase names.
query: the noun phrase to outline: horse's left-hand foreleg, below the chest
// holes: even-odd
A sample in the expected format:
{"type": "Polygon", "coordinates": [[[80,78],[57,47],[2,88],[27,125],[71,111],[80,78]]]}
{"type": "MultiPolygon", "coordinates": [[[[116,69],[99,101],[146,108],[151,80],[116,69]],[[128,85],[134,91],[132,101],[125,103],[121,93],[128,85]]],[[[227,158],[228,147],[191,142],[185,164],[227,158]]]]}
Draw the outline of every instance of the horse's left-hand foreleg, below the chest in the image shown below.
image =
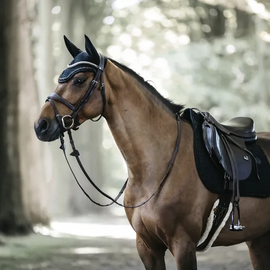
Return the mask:
{"type": "Polygon", "coordinates": [[[165,248],[152,249],[138,236],[136,239],[137,251],[146,270],[166,270],[165,267],[165,248]]]}

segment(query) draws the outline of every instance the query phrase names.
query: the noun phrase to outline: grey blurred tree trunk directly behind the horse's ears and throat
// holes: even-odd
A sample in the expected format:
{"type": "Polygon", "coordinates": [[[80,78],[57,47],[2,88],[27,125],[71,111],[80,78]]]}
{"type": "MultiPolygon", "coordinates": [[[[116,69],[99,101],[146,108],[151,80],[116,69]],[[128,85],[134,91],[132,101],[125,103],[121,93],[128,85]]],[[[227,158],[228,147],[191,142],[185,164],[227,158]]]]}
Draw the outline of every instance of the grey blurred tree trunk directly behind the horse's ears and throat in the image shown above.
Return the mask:
{"type": "MultiPolygon", "coordinates": [[[[62,0],[62,6],[63,5],[66,5],[64,0],[62,0]]],[[[64,8],[66,9],[66,7],[64,8]]],[[[97,34],[99,33],[103,18],[106,16],[106,9],[108,8],[109,7],[105,1],[99,3],[88,0],[77,0],[76,3],[71,1],[69,8],[70,13],[66,15],[69,15],[68,17],[71,19],[72,24],[69,23],[65,25],[66,22],[63,20],[63,18],[66,18],[66,15],[61,14],[62,29],[60,31],[60,42],[62,44],[63,55],[69,54],[62,40],[62,36],[67,34],[69,34],[72,42],[83,51],[85,50],[84,34],[88,35],[93,44],[99,47],[100,44],[97,40],[97,34]]],[[[105,50],[107,46],[102,46],[102,48],[105,50]]],[[[65,61],[65,66],[70,59],[70,55],[62,58],[62,61],[65,61]]],[[[104,186],[104,172],[102,169],[104,163],[101,158],[102,139],[102,121],[93,123],[92,121],[88,120],[80,127],[80,131],[74,133],[74,140],[77,142],[76,146],[80,150],[83,163],[85,166],[87,166],[89,175],[101,188],[104,186]]],[[[76,166],[75,171],[76,175],[80,179],[80,182],[83,184],[85,190],[91,196],[91,198],[97,202],[103,203],[103,196],[101,196],[89,184],[81,169],[76,166]]],[[[101,213],[105,210],[105,208],[94,205],[86,196],[82,195],[81,189],[78,187],[73,178],[70,188],[72,192],[70,193],[69,207],[73,215],[85,215],[95,212],[101,213]]]]}

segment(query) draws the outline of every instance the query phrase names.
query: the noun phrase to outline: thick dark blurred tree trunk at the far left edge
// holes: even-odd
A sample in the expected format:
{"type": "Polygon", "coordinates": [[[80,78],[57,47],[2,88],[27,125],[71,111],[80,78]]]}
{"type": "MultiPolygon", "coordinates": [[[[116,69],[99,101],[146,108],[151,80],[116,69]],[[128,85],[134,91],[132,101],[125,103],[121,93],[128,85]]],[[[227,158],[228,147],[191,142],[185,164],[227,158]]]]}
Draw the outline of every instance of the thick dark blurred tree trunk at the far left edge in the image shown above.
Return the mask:
{"type": "Polygon", "coordinates": [[[48,223],[41,144],[33,131],[38,94],[33,79],[25,0],[0,8],[0,232],[24,234],[48,223]]]}

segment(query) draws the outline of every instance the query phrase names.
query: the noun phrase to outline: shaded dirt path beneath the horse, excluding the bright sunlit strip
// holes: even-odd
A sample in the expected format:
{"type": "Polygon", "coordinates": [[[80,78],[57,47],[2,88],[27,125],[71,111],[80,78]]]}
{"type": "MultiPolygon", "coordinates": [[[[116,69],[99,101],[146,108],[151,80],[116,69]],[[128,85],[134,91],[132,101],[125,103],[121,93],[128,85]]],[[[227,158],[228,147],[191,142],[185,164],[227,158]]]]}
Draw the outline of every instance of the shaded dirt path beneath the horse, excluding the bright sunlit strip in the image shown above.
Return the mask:
{"type": "MultiPolygon", "coordinates": [[[[53,238],[32,235],[4,239],[0,270],[143,270],[131,239],[53,238]]],[[[198,254],[199,270],[252,270],[245,245],[198,254]]],[[[167,270],[175,270],[166,254],[167,270]]]]}

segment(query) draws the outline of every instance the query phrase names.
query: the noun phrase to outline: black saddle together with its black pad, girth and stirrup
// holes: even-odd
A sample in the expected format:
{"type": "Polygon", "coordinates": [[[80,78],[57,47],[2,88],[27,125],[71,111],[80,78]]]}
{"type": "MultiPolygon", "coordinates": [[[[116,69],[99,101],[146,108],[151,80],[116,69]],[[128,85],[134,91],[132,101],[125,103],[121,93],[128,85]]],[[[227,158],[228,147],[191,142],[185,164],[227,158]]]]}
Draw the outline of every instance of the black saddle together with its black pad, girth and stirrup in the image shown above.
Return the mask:
{"type": "Polygon", "coordinates": [[[209,112],[186,108],[181,118],[193,129],[193,150],[198,176],[205,188],[218,195],[213,226],[197,250],[203,250],[228,211],[230,229],[241,231],[239,199],[270,197],[270,163],[249,117],[219,123],[209,112]],[[233,204],[231,204],[233,203],[233,204]],[[238,223],[234,224],[234,210],[238,223]],[[235,213],[236,214],[236,213],[235,213]]]}

